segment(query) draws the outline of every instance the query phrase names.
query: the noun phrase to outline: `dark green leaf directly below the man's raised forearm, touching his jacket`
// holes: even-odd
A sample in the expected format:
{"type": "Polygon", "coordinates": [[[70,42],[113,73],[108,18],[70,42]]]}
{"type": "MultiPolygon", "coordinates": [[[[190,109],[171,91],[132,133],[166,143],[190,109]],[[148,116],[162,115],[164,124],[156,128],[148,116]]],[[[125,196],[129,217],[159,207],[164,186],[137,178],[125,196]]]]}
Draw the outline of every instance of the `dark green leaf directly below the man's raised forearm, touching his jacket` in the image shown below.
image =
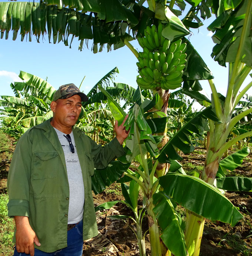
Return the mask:
{"type": "Polygon", "coordinates": [[[119,161],[110,162],[104,169],[94,169],[94,175],[91,177],[92,190],[94,194],[99,194],[118,180],[122,174],[129,168],[129,164],[123,164],[119,161]]]}

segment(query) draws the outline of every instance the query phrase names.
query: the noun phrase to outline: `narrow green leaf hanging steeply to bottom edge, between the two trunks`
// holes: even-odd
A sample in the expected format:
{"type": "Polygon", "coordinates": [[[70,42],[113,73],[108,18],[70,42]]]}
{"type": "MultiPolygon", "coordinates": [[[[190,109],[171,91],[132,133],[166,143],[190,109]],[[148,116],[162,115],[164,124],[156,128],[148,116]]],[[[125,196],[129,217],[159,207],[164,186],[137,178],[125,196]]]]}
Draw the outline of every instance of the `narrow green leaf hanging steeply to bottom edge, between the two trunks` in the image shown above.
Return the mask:
{"type": "Polygon", "coordinates": [[[178,216],[169,198],[163,193],[153,195],[153,212],[161,229],[161,239],[176,256],[186,256],[186,243],[178,216]]]}

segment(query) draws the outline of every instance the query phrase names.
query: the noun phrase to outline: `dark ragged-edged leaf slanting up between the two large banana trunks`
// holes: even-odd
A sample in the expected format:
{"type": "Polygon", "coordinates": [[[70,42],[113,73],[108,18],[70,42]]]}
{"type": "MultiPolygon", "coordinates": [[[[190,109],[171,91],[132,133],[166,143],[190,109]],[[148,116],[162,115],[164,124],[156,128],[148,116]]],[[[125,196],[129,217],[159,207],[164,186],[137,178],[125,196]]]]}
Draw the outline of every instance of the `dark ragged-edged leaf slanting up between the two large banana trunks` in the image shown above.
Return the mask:
{"type": "Polygon", "coordinates": [[[158,161],[160,163],[167,162],[168,158],[166,155],[168,155],[168,157],[172,160],[182,160],[183,158],[178,155],[176,148],[179,148],[184,154],[192,152],[194,147],[188,135],[193,135],[193,133],[202,135],[204,131],[203,120],[205,118],[218,121],[218,118],[210,107],[198,112],[198,114],[186,122],[186,124],[183,125],[183,127],[181,127],[172,138],[170,138],[167,144],[160,151],[158,161]]]}

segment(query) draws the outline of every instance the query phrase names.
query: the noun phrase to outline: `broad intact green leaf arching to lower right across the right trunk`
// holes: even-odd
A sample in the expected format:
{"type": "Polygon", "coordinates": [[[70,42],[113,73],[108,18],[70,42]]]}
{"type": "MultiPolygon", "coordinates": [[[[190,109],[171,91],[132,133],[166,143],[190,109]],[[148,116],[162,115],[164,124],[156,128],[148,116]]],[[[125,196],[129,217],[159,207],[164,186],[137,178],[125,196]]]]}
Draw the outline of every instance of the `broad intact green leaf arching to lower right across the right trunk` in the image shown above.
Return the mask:
{"type": "Polygon", "coordinates": [[[159,184],[163,187],[163,192],[178,204],[207,219],[234,226],[242,218],[242,214],[228,198],[199,178],[168,173],[159,178],[159,184]]]}

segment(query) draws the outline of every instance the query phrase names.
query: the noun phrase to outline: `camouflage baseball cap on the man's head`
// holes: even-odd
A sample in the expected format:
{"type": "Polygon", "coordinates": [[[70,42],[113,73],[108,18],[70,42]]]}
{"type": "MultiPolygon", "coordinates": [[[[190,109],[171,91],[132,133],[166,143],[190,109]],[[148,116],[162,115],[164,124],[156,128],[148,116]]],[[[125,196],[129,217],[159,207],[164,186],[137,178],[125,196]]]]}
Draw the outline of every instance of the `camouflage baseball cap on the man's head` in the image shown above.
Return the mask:
{"type": "Polygon", "coordinates": [[[80,95],[82,101],[88,100],[87,95],[81,92],[77,86],[73,83],[68,83],[67,85],[62,85],[57,89],[53,95],[53,101],[57,101],[57,99],[67,99],[76,94],[80,95]]]}

